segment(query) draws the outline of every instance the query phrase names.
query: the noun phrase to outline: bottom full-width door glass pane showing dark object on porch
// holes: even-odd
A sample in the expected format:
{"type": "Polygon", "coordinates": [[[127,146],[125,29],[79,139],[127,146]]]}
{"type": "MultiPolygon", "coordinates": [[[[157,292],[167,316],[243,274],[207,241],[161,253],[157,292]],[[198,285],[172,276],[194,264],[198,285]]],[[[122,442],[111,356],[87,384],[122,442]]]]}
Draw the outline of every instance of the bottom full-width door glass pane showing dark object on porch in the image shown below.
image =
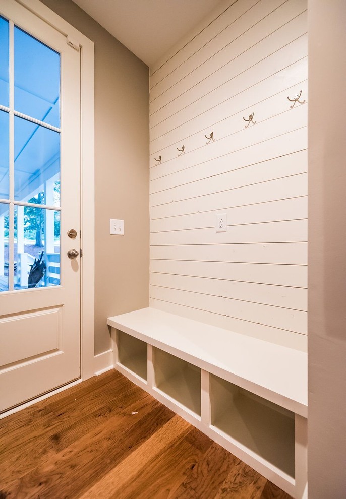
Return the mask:
{"type": "Polygon", "coordinates": [[[60,212],[15,207],[15,289],[60,284],[60,212]]]}

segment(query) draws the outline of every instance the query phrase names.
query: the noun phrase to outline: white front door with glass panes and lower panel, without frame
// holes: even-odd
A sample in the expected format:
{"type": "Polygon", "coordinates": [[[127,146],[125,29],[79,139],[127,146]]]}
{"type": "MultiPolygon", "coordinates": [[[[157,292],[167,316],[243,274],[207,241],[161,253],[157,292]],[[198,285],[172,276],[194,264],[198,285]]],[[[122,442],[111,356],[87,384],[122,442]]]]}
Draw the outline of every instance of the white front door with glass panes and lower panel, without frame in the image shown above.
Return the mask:
{"type": "Polygon", "coordinates": [[[80,377],[81,115],[80,52],[15,0],[0,15],[1,413],[80,377]]]}

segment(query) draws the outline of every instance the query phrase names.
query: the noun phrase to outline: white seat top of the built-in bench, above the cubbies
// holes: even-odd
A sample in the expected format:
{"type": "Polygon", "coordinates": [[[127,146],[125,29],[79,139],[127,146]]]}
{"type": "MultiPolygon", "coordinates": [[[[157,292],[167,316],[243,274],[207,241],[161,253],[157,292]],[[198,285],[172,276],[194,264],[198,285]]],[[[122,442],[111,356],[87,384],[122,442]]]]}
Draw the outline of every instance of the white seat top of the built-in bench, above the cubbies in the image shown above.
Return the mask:
{"type": "Polygon", "coordinates": [[[107,324],[307,417],[307,353],[148,307],[107,324]]]}

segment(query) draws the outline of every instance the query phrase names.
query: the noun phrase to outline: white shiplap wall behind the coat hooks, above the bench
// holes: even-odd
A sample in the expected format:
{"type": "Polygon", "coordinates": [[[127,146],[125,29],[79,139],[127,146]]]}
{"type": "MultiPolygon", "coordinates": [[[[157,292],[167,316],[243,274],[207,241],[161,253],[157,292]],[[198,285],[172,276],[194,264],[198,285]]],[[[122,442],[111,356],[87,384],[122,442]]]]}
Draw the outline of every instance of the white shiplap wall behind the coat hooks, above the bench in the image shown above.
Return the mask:
{"type": "Polygon", "coordinates": [[[220,6],[151,70],[150,305],[304,350],[307,0],[220,6]]]}

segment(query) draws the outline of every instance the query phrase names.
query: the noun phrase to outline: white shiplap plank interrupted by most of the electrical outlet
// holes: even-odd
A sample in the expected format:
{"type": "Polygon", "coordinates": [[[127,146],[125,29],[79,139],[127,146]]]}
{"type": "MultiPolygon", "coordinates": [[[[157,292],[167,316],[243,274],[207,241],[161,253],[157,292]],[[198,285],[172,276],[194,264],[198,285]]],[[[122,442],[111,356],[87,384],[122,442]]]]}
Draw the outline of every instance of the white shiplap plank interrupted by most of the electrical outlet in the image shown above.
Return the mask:
{"type": "MultiPolygon", "coordinates": [[[[271,203],[227,208],[228,225],[242,225],[263,222],[304,219],[308,217],[306,196],[283,199],[271,203]]],[[[159,218],[150,221],[150,232],[167,230],[202,229],[215,227],[215,212],[193,213],[178,217],[159,218]]]]}

